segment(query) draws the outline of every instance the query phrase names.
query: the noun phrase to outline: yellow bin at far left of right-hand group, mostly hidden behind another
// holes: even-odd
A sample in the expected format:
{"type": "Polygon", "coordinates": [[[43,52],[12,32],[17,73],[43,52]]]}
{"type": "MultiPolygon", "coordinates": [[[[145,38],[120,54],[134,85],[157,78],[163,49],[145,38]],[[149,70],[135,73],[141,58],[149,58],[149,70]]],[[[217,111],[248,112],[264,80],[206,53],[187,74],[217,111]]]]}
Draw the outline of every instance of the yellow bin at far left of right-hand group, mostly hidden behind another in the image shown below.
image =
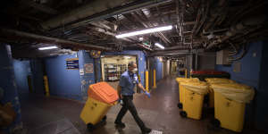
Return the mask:
{"type": "Polygon", "coordinates": [[[181,83],[183,82],[197,82],[199,81],[197,78],[193,78],[193,79],[188,79],[188,78],[177,78],[176,81],[179,83],[179,104],[178,107],[180,109],[182,109],[183,107],[183,96],[184,96],[184,90],[183,87],[181,86],[181,83]]]}

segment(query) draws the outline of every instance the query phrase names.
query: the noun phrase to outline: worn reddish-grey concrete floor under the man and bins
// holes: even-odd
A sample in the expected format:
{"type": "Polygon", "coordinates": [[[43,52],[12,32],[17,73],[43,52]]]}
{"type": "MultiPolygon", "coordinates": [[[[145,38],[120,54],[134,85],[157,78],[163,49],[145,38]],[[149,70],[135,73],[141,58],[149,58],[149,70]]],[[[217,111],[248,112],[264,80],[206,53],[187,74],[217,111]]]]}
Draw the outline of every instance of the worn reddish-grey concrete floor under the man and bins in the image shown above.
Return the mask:
{"type": "MultiPolygon", "coordinates": [[[[134,103],[141,119],[153,130],[163,134],[232,134],[230,130],[207,129],[208,115],[201,121],[180,117],[177,107],[178,84],[172,77],[158,82],[151,98],[142,94],[134,96],[134,103]]],[[[21,96],[21,113],[25,130],[29,134],[88,134],[86,124],[80,120],[83,104],[78,101],[37,95],[21,96]]],[[[93,134],[139,134],[140,130],[130,113],[123,119],[124,130],[116,130],[113,121],[121,105],[113,106],[107,113],[107,121],[94,130],[93,134]]],[[[244,129],[243,133],[260,133],[244,129]]]]}

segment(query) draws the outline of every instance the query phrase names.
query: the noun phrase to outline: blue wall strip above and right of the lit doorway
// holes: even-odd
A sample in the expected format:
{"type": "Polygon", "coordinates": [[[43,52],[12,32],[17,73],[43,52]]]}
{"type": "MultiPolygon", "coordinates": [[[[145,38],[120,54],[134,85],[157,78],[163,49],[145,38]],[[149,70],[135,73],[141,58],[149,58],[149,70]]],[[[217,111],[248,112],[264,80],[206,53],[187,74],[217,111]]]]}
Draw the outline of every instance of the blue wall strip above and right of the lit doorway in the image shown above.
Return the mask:
{"type": "Polygon", "coordinates": [[[122,52],[113,52],[113,53],[104,53],[103,55],[138,55],[138,74],[140,76],[141,84],[145,86],[145,71],[146,71],[146,57],[147,55],[142,51],[122,51],[122,52]]]}

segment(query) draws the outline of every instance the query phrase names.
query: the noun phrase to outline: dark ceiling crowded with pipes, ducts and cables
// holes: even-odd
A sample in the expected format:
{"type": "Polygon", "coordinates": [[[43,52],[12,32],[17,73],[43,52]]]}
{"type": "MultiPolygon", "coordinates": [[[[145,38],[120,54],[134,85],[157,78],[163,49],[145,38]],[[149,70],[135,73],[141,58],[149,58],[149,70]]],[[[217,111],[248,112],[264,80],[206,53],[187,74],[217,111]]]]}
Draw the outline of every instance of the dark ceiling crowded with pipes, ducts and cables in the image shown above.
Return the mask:
{"type": "Polygon", "coordinates": [[[70,52],[67,49],[138,49],[152,54],[239,49],[268,35],[265,0],[8,0],[1,3],[0,39],[13,46],[14,57],[65,54],[70,52]],[[120,33],[166,25],[172,25],[173,29],[115,38],[120,33]],[[155,42],[165,49],[154,46],[155,42]],[[40,46],[51,45],[62,49],[38,51],[40,46]]]}

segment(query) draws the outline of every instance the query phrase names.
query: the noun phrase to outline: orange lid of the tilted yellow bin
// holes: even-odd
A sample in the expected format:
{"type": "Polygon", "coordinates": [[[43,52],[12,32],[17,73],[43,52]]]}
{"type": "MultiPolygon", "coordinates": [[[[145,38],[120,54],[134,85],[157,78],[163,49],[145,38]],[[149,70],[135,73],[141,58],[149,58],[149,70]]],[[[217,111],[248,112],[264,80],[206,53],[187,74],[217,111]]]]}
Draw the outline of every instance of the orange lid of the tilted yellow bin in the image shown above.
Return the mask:
{"type": "Polygon", "coordinates": [[[88,96],[111,105],[119,98],[117,91],[106,82],[98,82],[90,85],[88,88],[88,96]]]}

